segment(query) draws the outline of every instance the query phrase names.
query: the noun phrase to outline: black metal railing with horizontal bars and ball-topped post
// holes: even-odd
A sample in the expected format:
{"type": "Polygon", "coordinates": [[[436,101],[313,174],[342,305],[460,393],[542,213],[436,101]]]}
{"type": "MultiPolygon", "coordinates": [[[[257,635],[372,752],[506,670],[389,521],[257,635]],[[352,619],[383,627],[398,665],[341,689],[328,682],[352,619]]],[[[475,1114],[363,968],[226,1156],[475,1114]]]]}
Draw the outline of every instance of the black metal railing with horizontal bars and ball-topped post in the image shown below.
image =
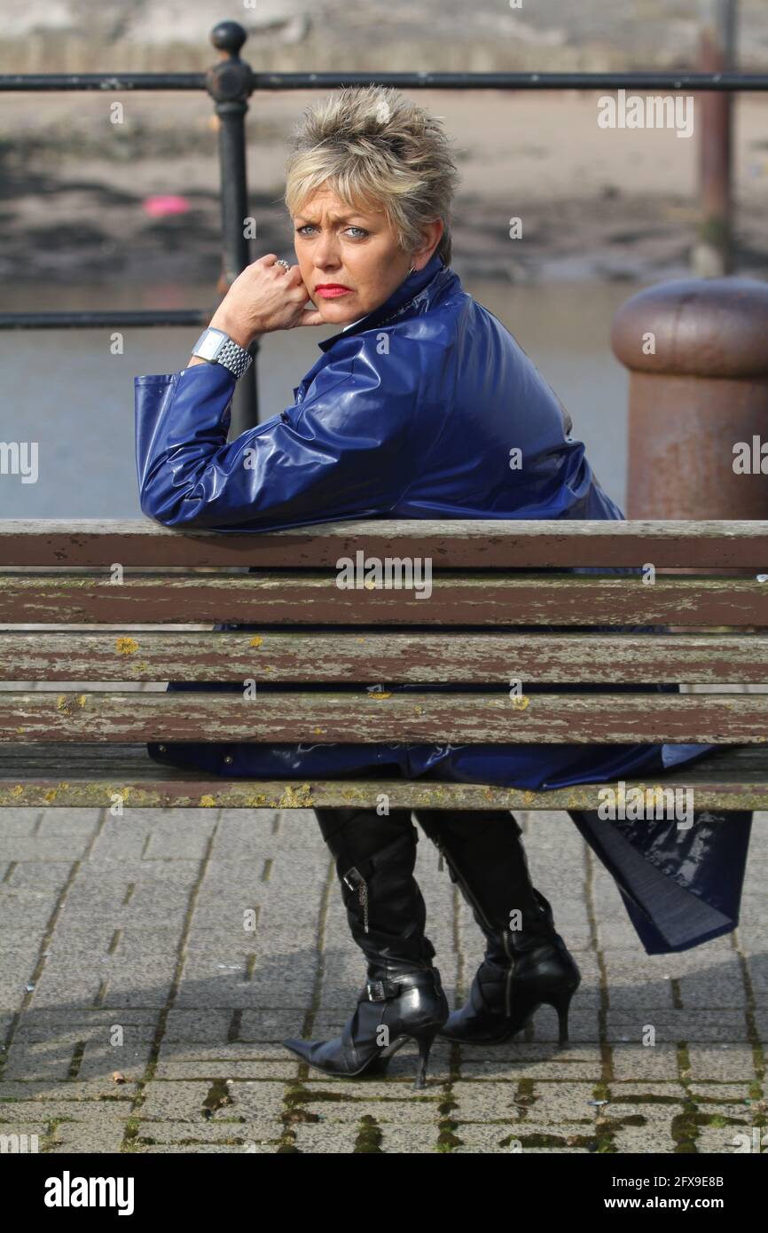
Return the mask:
{"type": "MultiPolygon", "coordinates": [[[[247,32],[235,21],[211,31],[221,59],[206,73],[52,73],[1,74],[0,91],[207,90],[219,118],[218,158],[222,219],[222,277],[217,291],[251,260],[244,219],[248,217],[245,113],[256,90],[323,90],[351,85],[388,85],[403,90],[635,90],[731,94],[768,90],[766,73],[256,73],[240,59],[247,32]]],[[[206,326],[208,309],[0,313],[0,329],[92,329],[97,327],[206,326]]],[[[259,420],[256,359],[238,382],[231,438],[259,420]]]]}

